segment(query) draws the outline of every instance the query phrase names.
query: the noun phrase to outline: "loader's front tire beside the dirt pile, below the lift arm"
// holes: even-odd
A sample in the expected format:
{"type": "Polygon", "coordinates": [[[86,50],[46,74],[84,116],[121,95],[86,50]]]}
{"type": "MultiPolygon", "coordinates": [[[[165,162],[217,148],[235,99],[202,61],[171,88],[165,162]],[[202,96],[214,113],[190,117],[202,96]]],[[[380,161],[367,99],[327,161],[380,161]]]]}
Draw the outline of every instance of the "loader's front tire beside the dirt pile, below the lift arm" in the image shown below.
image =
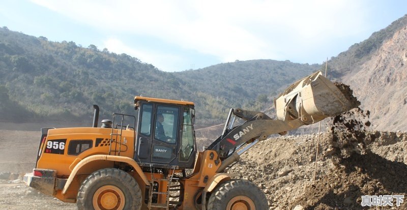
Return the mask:
{"type": "Polygon", "coordinates": [[[209,210],[264,210],[269,209],[266,195],[253,183],[230,179],[220,184],[208,201],[209,210]]]}

